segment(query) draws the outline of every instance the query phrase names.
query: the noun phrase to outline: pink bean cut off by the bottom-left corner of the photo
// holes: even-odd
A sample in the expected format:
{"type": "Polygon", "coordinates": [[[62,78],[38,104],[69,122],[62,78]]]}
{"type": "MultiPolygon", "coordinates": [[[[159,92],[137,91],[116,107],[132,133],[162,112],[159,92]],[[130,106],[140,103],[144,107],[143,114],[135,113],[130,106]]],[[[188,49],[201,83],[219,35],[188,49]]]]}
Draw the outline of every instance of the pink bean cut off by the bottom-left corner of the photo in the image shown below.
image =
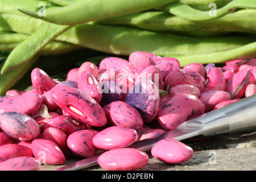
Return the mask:
{"type": "Polygon", "coordinates": [[[0,163],[0,171],[39,171],[40,162],[36,158],[20,156],[0,163]]]}

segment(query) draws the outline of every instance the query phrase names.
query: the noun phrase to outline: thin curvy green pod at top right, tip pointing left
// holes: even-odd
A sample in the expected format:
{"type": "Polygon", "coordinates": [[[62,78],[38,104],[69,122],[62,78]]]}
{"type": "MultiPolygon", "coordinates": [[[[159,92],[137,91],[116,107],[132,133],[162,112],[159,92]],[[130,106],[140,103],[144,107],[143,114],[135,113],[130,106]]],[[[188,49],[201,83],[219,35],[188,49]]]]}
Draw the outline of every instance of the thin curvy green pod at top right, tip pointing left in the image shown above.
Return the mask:
{"type": "Polygon", "coordinates": [[[180,16],[181,18],[193,21],[209,20],[224,16],[236,9],[256,9],[255,0],[233,0],[226,6],[220,9],[213,9],[209,11],[200,11],[193,9],[191,6],[185,5],[181,2],[174,2],[157,9],[166,11],[168,13],[180,16]]]}

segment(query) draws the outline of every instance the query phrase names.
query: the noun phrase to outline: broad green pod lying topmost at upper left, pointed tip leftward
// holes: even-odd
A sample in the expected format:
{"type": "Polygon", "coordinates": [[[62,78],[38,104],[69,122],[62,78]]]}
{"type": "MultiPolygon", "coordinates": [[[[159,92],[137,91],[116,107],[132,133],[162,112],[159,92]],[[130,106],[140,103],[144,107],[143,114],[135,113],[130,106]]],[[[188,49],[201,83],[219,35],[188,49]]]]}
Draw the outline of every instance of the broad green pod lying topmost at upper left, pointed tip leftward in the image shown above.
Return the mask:
{"type": "Polygon", "coordinates": [[[47,11],[46,16],[38,16],[36,11],[19,9],[22,13],[55,24],[75,25],[113,16],[137,13],[166,5],[176,0],[97,0],[60,7],[47,11]]]}

